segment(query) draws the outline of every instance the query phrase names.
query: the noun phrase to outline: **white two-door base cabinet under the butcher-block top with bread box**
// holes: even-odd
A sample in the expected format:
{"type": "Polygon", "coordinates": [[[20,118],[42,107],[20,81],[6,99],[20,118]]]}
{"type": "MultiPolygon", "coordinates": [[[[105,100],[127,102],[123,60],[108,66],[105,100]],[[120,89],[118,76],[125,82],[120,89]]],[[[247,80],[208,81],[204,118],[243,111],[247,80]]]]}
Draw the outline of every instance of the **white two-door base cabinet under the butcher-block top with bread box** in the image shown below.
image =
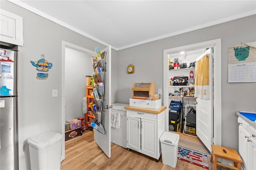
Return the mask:
{"type": "Polygon", "coordinates": [[[127,147],[159,160],[164,113],[127,109],[127,147]]]}

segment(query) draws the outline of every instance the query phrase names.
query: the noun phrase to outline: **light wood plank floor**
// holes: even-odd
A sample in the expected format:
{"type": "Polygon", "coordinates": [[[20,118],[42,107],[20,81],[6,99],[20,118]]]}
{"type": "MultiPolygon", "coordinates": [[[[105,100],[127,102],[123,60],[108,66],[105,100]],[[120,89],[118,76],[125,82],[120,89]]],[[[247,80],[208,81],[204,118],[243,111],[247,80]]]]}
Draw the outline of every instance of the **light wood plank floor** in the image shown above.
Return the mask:
{"type": "MultiPolygon", "coordinates": [[[[94,142],[93,135],[92,131],[86,130],[82,136],[65,142],[66,152],[61,163],[62,170],[206,170],[179,159],[176,168],[172,168],[162,164],[161,157],[160,161],[156,162],[154,158],[112,143],[111,158],[108,158],[94,142]]],[[[182,137],[182,134],[180,135],[182,137]]],[[[198,140],[186,135],[184,137],[198,140]]]]}

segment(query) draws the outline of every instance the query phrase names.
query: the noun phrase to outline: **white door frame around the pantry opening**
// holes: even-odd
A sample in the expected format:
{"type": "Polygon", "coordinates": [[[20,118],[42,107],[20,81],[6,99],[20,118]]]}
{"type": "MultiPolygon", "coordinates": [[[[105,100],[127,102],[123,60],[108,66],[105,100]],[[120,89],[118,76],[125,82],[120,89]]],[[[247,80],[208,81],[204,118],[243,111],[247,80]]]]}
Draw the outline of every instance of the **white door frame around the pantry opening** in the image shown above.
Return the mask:
{"type": "MultiPolygon", "coordinates": [[[[169,80],[169,68],[168,68],[168,55],[172,53],[178,53],[182,50],[191,51],[195,49],[214,47],[214,66],[213,66],[213,143],[214,145],[221,146],[221,135],[222,135],[222,102],[221,102],[221,39],[214,39],[211,41],[205,41],[201,43],[195,43],[191,45],[185,45],[181,47],[165,49],[163,51],[163,106],[169,107],[169,95],[168,95],[168,80],[169,80]]],[[[165,131],[168,130],[168,110],[165,110],[165,131]]]]}

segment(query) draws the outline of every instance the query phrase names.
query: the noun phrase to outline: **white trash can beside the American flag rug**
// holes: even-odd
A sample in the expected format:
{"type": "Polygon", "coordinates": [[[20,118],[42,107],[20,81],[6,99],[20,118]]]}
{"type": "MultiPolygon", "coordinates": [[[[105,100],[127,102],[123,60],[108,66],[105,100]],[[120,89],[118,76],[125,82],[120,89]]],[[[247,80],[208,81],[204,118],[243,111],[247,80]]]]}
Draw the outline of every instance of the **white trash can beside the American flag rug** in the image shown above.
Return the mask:
{"type": "Polygon", "coordinates": [[[172,168],[176,167],[178,161],[178,144],[180,135],[172,132],[164,132],[160,137],[162,163],[172,168]]]}

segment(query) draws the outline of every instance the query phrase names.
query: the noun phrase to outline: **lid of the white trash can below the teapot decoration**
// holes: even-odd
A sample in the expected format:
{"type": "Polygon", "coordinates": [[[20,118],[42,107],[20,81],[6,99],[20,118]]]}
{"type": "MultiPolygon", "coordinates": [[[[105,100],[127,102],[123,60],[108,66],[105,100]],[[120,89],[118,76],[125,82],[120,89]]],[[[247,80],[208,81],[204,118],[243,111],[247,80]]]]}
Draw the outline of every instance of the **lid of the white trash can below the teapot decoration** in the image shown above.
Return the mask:
{"type": "Polygon", "coordinates": [[[61,140],[62,135],[60,133],[49,131],[29,138],[27,143],[35,149],[44,149],[61,140]]]}

